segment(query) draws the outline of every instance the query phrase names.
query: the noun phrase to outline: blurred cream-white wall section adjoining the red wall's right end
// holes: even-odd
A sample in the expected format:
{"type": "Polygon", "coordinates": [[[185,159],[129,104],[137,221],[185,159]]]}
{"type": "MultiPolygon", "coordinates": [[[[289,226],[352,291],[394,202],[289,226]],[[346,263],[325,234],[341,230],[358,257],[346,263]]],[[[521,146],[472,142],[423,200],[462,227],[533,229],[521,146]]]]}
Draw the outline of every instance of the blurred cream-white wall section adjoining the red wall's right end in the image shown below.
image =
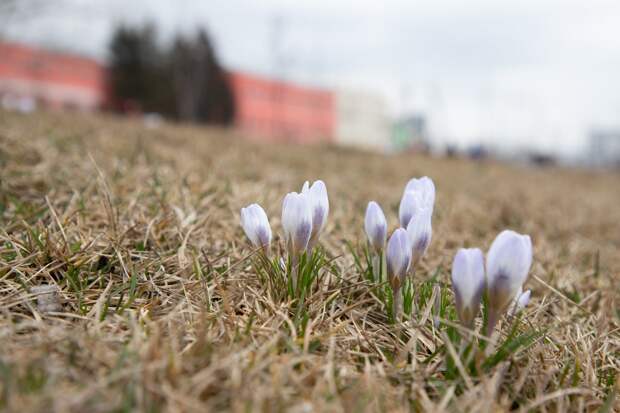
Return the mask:
{"type": "Polygon", "coordinates": [[[390,150],[391,125],[384,99],[357,90],[336,92],[335,142],[371,150],[390,150]]]}

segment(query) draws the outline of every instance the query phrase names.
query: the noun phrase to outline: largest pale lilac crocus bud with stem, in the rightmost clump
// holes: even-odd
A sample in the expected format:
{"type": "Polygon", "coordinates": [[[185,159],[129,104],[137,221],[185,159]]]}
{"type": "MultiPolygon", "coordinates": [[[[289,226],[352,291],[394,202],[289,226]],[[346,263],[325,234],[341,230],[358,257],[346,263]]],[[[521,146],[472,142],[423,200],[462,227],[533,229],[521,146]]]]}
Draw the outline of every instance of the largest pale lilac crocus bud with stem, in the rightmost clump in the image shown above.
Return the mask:
{"type": "Polygon", "coordinates": [[[532,241],[528,235],[502,231],[487,254],[488,334],[527,279],[532,265],[532,241]]]}

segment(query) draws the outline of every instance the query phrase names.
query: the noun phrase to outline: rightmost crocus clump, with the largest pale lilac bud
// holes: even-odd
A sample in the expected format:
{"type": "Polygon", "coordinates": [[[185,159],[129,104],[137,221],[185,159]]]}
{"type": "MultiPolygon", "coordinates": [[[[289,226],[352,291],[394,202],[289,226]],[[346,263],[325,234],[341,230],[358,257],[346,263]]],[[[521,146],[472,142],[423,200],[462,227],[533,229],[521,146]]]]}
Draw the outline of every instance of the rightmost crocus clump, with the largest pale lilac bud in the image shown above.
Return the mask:
{"type": "Polygon", "coordinates": [[[528,235],[502,231],[487,253],[486,271],[482,251],[460,249],[452,263],[452,289],[461,322],[472,327],[482,296],[487,298],[487,334],[491,335],[501,315],[512,307],[522,310],[531,291],[523,284],[532,265],[532,242],[528,235]]]}

